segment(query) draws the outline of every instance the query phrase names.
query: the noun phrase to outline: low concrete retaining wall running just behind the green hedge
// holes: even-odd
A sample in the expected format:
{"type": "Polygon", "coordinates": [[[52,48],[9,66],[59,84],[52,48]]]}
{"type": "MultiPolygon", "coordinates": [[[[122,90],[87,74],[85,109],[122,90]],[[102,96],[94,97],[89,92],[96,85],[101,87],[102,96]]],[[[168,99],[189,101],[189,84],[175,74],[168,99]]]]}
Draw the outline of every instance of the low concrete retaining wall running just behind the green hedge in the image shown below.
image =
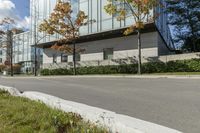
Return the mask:
{"type": "MultiPolygon", "coordinates": [[[[175,60],[186,60],[186,59],[198,59],[200,58],[200,52],[198,53],[188,53],[188,54],[178,54],[178,55],[167,55],[158,57],[143,57],[142,63],[145,62],[168,62],[175,60]]],[[[122,65],[122,64],[134,64],[137,63],[137,58],[129,57],[124,59],[112,59],[112,60],[94,60],[94,61],[80,61],[77,62],[77,66],[101,66],[101,65],[122,65]]],[[[43,64],[43,68],[55,69],[55,68],[71,68],[72,62],[69,63],[46,63],[43,64]]]]}

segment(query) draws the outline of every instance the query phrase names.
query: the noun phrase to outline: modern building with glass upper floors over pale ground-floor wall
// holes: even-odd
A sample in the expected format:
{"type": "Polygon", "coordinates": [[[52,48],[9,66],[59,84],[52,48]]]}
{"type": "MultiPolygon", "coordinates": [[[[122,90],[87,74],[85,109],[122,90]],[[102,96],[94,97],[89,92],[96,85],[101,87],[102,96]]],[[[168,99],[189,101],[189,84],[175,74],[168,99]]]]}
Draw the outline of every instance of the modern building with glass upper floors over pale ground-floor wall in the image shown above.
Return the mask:
{"type": "MultiPolygon", "coordinates": [[[[43,49],[39,50],[43,53],[43,68],[66,67],[72,64],[70,53],[61,53],[50,49],[61,36],[58,34],[49,36],[38,31],[39,24],[50,16],[56,2],[57,0],[31,0],[30,2],[29,42],[32,45],[36,43],[39,48],[43,49]]],[[[81,36],[76,44],[77,47],[85,49],[77,56],[79,65],[109,65],[124,61],[132,63],[137,60],[137,36],[135,34],[123,36],[123,31],[134,23],[131,14],[128,14],[125,20],[117,21],[116,16],[108,15],[104,10],[107,0],[71,0],[70,2],[74,15],[82,10],[88,16],[89,22],[80,28],[81,36]]],[[[124,3],[116,4],[126,8],[124,3]]],[[[163,9],[158,8],[156,11],[162,13],[156,24],[154,22],[147,23],[143,31],[142,56],[144,59],[169,54],[173,48],[169,41],[170,32],[166,14],[163,9]]],[[[148,22],[149,18],[145,19],[148,22]]]]}

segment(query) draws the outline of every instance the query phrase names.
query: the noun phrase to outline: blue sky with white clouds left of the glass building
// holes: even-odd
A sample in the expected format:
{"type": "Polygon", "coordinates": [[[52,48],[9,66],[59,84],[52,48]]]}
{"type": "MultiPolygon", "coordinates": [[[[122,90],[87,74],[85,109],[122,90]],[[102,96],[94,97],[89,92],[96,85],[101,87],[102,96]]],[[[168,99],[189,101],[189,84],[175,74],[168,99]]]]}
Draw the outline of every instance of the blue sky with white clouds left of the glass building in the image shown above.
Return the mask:
{"type": "Polygon", "coordinates": [[[0,0],[0,20],[9,17],[15,20],[17,28],[29,29],[29,1],[0,0]]]}

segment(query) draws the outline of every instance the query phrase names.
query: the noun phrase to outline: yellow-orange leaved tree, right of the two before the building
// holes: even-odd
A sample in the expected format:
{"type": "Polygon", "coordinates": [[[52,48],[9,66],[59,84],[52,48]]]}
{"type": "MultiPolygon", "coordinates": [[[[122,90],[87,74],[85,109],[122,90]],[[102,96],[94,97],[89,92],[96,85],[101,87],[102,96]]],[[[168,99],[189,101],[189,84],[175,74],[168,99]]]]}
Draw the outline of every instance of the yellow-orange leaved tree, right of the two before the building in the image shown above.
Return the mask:
{"type": "Polygon", "coordinates": [[[137,32],[138,35],[138,74],[141,74],[141,30],[145,23],[153,22],[156,18],[153,9],[160,5],[158,0],[107,0],[105,11],[117,17],[117,20],[124,20],[128,15],[133,19],[133,25],[124,32],[128,35],[137,32]],[[125,6],[124,6],[125,5],[125,6]],[[149,18],[149,19],[148,19],[149,18]]]}

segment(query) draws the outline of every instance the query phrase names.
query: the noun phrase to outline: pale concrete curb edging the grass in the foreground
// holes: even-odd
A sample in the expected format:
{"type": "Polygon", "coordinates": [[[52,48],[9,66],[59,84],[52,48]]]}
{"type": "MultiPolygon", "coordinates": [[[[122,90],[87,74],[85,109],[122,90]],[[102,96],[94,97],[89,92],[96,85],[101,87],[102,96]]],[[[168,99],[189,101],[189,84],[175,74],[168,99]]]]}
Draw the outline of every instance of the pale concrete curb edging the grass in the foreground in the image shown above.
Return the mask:
{"type": "Polygon", "coordinates": [[[116,114],[115,112],[91,107],[85,104],[66,101],[40,92],[27,91],[20,93],[17,89],[6,86],[0,86],[0,89],[7,90],[15,96],[41,101],[52,108],[57,108],[65,112],[78,113],[85,120],[89,120],[97,125],[105,126],[113,133],[181,133],[180,131],[154,123],[116,114]]]}

